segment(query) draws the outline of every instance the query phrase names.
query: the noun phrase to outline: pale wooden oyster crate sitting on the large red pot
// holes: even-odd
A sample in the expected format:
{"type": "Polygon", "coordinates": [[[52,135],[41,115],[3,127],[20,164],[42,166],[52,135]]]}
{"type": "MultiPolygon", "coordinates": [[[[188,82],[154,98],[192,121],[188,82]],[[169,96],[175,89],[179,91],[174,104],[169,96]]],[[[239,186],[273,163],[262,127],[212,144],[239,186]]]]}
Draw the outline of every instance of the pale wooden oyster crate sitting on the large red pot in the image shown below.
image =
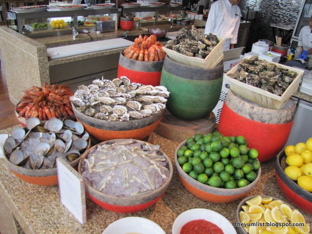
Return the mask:
{"type": "MultiPolygon", "coordinates": [[[[244,57],[244,59],[250,58],[251,56],[244,57]]],[[[227,72],[225,77],[228,80],[230,88],[235,95],[238,95],[242,98],[246,98],[247,100],[253,101],[254,103],[257,103],[263,107],[279,110],[281,109],[283,104],[292,96],[292,94],[297,91],[301,80],[301,76],[303,75],[303,70],[285,66],[283,64],[279,64],[276,62],[269,63],[273,63],[277,66],[288,69],[289,71],[294,71],[298,74],[297,77],[293,79],[292,83],[282,94],[282,96],[275,95],[273,93],[270,93],[269,91],[265,91],[258,87],[254,87],[250,84],[246,84],[239,80],[236,80],[235,78],[231,78],[229,74],[234,74],[241,67],[239,63],[229,72],[227,72]]]]}

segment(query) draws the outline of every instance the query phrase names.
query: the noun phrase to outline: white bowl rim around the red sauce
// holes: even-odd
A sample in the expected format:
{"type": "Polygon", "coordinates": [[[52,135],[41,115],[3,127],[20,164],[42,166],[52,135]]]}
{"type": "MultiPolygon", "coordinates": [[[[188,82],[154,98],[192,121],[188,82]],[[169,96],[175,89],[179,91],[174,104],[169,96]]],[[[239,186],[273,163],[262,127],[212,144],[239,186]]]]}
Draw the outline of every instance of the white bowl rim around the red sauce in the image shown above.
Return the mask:
{"type": "Polygon", "coordinates": [[[172,234],[180,234],[184,224],[197,219],[204,219],[214,223],[222,229],[224,234],[236,234],[233,225],[226,217],[208,209],[191,209],[177,216],[172,227],[172,234]]]}

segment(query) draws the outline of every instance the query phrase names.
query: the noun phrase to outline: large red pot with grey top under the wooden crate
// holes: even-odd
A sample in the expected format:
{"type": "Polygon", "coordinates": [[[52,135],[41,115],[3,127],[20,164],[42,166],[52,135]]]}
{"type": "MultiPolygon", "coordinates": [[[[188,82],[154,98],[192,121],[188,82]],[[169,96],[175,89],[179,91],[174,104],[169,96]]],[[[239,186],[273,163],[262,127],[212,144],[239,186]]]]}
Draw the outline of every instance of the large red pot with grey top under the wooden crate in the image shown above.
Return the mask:
{"type": "Polygon", "coordinates": [[[268,109],[229,90],[221,111],[219,132],[224,136],[244,136],[248,147],[258,150],[260,162],[270,160],[286,144],[296,103],[289,99],[280,110],[268,109]]]}

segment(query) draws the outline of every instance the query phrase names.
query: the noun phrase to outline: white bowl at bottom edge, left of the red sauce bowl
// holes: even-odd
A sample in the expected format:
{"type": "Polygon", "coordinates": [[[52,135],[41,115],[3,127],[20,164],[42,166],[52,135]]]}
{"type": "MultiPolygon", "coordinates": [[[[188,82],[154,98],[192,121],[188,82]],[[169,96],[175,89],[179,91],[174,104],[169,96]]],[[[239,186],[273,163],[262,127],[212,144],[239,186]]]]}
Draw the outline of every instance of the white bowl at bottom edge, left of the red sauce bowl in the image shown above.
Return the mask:
{"type": "Polygon", "coordinates": [[[102,234],[166,234],[155,222],[141,217],[126,217],[111,223],[102,234]]]}

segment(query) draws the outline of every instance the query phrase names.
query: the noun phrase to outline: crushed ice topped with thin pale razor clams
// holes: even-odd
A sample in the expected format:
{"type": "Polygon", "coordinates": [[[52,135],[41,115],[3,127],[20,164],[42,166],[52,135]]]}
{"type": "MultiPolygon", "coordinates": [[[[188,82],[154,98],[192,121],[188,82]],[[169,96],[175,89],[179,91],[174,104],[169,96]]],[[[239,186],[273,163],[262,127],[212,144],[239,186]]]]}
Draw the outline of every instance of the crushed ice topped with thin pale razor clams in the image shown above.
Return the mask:
{"type": "Polygon", "coordinates": [[[147,194],[170,175],[159,145],[133,139],[98,145],[80,163],[82,176],[94,189],[117,197],[147,194]]]}

